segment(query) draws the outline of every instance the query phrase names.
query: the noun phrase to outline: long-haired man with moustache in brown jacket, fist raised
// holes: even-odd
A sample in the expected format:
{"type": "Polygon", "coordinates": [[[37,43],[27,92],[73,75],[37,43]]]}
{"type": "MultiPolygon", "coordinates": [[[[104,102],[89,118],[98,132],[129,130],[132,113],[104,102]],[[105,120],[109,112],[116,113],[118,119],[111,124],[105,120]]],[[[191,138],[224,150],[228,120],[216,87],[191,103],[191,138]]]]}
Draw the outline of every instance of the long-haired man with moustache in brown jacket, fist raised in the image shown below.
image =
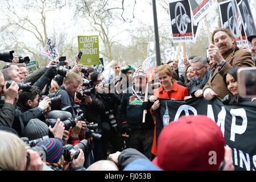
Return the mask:
{"type": "Polygon", "coordinates": [[[210,59],[214,60],[207,84],[204,86],[204,98],[212,100],[218,96],[223,99],[230,94],[223,80],[224,73],[234,67],[254,67],[249,51],[239,49],[236,40],[229,30],[218,28],[213,31],[212,43],[208,51],[210,59]]]}

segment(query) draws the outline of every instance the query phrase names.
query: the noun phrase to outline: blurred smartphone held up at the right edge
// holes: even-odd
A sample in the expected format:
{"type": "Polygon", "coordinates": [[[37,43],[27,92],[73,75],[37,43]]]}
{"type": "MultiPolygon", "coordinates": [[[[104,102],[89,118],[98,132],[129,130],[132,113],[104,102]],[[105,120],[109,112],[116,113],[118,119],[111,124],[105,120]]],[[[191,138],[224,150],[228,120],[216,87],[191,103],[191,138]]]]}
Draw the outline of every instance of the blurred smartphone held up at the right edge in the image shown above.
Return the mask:
{"type": "Polygon", "coordinates": [[[256,97],[256,67],[238,69],[237,82],[240,96],[256,97]]]}

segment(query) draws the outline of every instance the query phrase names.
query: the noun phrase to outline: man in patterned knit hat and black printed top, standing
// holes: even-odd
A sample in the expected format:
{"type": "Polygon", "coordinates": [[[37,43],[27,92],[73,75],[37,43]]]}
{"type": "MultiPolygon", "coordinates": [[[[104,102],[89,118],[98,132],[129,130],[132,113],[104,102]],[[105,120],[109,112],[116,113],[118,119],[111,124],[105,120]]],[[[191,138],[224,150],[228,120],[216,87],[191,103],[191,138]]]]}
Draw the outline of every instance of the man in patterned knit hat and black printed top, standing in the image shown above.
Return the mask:
{"type": "Polygon", "coordinates": [[[150,111],[147,111],[143,123],[143,110],[150,109],[149,102],[143,102],[147,82],[146,73],[136,71],[133,75],[134,85],[127,88],[121,100],[121,118],[123,133],[131,130],[127,147],[135,148],[142,152],[147,158],[151,158],[151,145],[153,140],[154,121],[150,111]]]}

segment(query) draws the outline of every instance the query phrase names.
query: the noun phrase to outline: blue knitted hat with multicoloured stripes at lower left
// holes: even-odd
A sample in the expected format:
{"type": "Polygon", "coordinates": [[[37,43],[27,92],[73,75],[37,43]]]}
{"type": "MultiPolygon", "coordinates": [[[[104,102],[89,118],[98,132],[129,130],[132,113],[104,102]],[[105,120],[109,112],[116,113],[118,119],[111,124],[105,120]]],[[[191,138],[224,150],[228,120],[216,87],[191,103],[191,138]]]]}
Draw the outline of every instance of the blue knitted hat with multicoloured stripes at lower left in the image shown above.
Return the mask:
{"type": "Polygon", "coordinates": [[[47,138],[36,144],[47,149],[46,162],[57,163],[63,154],[63,142],[57,138],[47,138]]]}

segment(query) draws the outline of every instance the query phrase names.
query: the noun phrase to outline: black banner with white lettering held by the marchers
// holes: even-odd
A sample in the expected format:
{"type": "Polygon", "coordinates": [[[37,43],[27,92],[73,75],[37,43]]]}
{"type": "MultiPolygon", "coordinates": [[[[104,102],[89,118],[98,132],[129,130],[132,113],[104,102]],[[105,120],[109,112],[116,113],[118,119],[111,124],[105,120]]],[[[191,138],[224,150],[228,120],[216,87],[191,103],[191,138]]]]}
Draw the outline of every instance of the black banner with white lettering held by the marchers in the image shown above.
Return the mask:
{"type": "Polygon", "coordinates": [[[224,134],[226,145],[233,150],[236,170],[256,170],[256,102],[241,99],[240,104],[224,105],[219,98],[160,99],[156,138],[163,128],[163,120],[173,122],[183,115],[207,115],[213,119],[224,134]]]}

